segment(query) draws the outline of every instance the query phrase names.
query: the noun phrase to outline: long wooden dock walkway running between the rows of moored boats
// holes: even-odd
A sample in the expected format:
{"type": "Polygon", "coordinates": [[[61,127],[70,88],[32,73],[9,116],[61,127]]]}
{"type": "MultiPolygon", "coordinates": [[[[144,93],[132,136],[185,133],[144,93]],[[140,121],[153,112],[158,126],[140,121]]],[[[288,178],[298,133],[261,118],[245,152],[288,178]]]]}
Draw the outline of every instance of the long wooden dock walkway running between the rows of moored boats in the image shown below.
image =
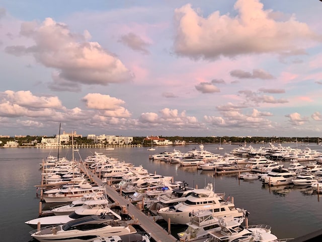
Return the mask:
{"type": "MultiPolygon", "coordinates": [[[[81,165],[81,169],[84,171],[86,170],[85,172],[87,172],[90,175],[91,179],[98,186],[101,186],[103,184],[102,180],[96,174],[94,174],[91,170],[86,169],[86,167],[84,165],[81,165]]],[[[138,210],[132,203],[130,203],[127,199],[125,199],[123,196],[121,196],[119,193],[117,193],[113,188],[111,188],[111,186],[106,185],[106,192],[107,192],[107,195],[109,196],[109,198],[111,200],[113,200],[114,202],[117,202],[120,206],[122,206],[122,205],[127,206],[128,205],[129,216],[134,218],[133,223],[135,223],[135,221],[137,219],[137,221],[138,221],[137,224],[139,224],[140,227],[145,232],[149,233],[155,241],[162,241],[162,242],[178,241],[178,239],[175,238],[174,236],[172,236],[171,234],[169,234],[167,230],[165,230],[163,227],[161,227],[160,225],[155,223],[153,221],[152,216],[150,216],[150,217],[146,216],[142,211],[138,210]]]]}

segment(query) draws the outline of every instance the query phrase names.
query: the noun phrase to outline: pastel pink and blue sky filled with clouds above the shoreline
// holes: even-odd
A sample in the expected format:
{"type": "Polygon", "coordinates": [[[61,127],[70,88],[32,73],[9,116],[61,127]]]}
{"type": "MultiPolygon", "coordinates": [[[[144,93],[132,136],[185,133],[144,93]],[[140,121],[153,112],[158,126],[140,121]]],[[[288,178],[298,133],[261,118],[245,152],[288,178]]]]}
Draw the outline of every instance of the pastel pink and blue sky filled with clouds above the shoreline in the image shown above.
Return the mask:
{"type": "Polygon", "coordinates": [[[0,3],[0,135],[322,136],[318,0],[0,3]]]}

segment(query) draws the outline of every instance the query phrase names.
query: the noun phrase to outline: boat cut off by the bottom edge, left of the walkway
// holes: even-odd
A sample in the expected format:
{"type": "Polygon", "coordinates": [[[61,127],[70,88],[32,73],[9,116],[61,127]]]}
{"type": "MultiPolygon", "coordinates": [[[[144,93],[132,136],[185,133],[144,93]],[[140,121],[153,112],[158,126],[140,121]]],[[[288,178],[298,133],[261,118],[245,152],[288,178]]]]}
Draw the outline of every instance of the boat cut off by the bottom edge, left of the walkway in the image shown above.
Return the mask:
{"type": "Polygon", "coordinates": [[[125,235],[99,236],[93,242],[150,242],[150,234],[130,233],[125,235]]]}

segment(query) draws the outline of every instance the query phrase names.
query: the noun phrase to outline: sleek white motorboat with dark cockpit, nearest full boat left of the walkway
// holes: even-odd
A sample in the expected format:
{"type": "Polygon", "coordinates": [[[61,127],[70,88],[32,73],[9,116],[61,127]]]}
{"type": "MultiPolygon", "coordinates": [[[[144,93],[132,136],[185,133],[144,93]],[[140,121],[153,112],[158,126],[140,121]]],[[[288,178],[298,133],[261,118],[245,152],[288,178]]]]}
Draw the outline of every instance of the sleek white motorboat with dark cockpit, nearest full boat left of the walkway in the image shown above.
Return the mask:
{"type": "Polygon", "coordinates": [[[47,226],[30,232],[40,242],[68,241],[90,242],[98,236],[136,233],[136,229],[125,222],[114,221],[107,215],[92,215],[74,219],[65,224],[47,226]]]}

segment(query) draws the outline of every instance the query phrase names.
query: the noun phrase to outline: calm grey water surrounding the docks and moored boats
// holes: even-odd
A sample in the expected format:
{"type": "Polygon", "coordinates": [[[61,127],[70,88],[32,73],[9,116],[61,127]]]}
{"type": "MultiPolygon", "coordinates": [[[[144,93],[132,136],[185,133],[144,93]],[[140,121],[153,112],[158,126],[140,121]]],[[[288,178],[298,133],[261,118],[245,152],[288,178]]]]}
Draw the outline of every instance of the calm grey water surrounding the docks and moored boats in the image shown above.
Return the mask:
{"type": "MultiPolygon", "coordinates": [[[[226,145],[223,146],[224,150],[217,150],[217,146],[204,145],[204,149],[223,154],[237,147],[226,145]]],[[[256,145],[254,147],[257,148],[256,145]]],[[[311,144],[309,147],[322,151],[321,146],[311,144]]],[[[141,164],[152,173],[174,176],[175,180],[186,181],[190,187],[198,185],[198,188],[202,188],[205,184],[214,182],[216,192],[225,192],[226,196],[233,196],[236,207],[250,212],[250,225],[271,225],[272,232],[279,238],[298,237],[322,227],[322,201],[319,201],[322,197],[307,194],[307,189],[293,186],[263,187],[260,180],[238,180],[237,175],[214,177],[212,171],[149,160],[149,154],[172,151],[174,148],[185,152],[195,148],[195,145],[155,148],[155,151],[147,151],[146,148],[80,149],[79,155],[85,159],[95,151],[102,152],[120,161],[141,164]]],[[[198,149],[197,145],[196,148],[198,149]]],[[[29,231],[32,229],[24,222],[38,216],[39,200],[36,198],[34,186],[40,184],[39,163],[49,154],[56,156],[57,150],[7,148],[0,149],[0,154],[1,241],[28,242],[31,239],[29,231]]],[[[76,160],[80,159],[79,155],[75,154],[76,160]]],[[[61,149],[59,157],[63,156],[71,159],[71,150],[61,149]]],[[[287,162],[284,164],[288,166],[287,162]]]]}

